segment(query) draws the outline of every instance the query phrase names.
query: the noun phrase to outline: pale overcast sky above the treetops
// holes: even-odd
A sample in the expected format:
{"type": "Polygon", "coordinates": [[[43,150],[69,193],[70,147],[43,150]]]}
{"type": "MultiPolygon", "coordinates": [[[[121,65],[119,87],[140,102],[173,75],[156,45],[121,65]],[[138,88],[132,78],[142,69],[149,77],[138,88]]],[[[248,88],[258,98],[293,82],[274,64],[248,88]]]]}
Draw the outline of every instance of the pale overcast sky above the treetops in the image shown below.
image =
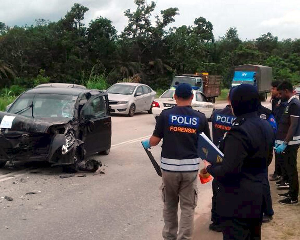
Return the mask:
{"type": "MultiPolygon", "coordinates": [[[[237,27],[241,39],[254,39],[271,32],[282,38],[300,38],[300,0],[156,0],[155,13],[170,7],[179,8],[176,22],[170,26],[193,25],[195,18],[211,21],[214,36],[223,36],[237,27]]],[[[127,24],[124,11],[135,9],[134,0],[0,0],[0,22],[8,26],[31,25],[35,19],[58,21],[74,3],[89,8],[86,26],[102,16],[110,19],[121,33],[127,24]]],[[[148,1],[150,3],[150,1],[148,1]]]]}

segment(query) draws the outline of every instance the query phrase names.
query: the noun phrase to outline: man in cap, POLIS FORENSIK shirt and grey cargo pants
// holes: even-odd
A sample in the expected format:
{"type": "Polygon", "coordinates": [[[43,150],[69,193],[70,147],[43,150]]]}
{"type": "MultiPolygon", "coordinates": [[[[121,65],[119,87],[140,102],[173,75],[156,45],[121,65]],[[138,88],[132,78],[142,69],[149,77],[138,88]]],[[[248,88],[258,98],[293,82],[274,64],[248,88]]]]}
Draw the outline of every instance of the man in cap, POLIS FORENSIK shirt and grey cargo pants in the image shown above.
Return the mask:
{"type": "Polygon", "coordinates": [[[150,140],[142,143],[145,148],[150,148],[158,145],[163,139],[161,154],[165,223],[163,239],[191,240],[198,193],[198,135],[204,132],[210,138],[210,131],[205,115],[191,107],[193,99],[191,85],[179,84],[174,98],[177,105],[162,111],[150,140]],[[178,231],[179,200],[181,217],[178,231]]]}

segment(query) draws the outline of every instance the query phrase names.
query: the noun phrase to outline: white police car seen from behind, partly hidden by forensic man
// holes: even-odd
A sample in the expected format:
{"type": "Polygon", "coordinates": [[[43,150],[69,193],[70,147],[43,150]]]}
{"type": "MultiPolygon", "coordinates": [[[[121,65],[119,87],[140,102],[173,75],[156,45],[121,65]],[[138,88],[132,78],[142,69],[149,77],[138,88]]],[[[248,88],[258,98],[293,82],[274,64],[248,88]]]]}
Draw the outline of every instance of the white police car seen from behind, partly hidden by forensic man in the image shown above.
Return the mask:
{"type": "MultiPolygon", "coordinates": [[[[159,98],[152,103],[152,114],[155,119],[160,115],[162,110],[176,106],[174,99],[175,88],[168,89],[159,98]]],[[[194,98],[192,100],[192,108],[205,114],[207,119],[211,119],[214,110],[214,104],[209,102],[205,95],[198,90],[193,90],[194,98]]]]}

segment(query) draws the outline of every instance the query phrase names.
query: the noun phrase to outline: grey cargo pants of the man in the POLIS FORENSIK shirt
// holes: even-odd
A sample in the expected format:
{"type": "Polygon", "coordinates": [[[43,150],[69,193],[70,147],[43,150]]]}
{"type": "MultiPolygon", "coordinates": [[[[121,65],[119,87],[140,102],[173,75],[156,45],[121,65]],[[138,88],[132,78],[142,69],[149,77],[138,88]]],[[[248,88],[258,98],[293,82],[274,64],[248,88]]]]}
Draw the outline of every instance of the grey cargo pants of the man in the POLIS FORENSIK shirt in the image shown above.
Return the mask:
{"type": "Polygon", "coordinates": [[[194,228],[194,212],[197,206],[198,172],[162,171],[163,239],[191,240],[194,228]],[[181,216],[178,232],[178,202],[181,216]]]}

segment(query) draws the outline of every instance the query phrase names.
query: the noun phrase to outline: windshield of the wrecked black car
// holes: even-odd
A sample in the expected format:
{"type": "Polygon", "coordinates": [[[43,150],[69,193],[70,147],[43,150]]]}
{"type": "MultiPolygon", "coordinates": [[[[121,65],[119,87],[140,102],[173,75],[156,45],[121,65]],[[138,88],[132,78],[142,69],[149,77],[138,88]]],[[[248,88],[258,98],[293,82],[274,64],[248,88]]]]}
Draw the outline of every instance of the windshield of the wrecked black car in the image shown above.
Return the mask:
{"type": "Polygon", "coordinates": [[[9,113],[35,118],[73,118],[78,96],[63,94],[22,94],[8,110],[9,113]]]}

